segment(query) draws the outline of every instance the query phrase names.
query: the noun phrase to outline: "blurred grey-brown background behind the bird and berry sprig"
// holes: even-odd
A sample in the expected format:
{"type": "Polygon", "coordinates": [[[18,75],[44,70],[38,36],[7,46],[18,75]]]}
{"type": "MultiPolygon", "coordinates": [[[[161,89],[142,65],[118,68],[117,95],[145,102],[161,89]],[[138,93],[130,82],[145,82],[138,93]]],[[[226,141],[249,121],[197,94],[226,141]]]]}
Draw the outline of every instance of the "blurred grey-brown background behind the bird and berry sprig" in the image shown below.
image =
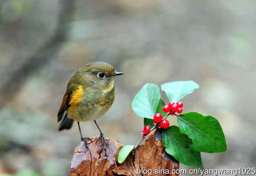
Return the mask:
{"type": "MultiPolygon", "coordinates": [[[[253,0],[1,0],[0,176],[69,175],[78,127],[58,132],[56,114],[70,77],[94,61],[125,73],[98,120],[106,137],[137,144],[131,102],[145,83],[194,80],[184,111],[216,117],[228,144],[202,153],[204,167],[255,167],[255,14],[253,0]]],[[[93,122],[82,131],[99,134],[93,122]]]]}

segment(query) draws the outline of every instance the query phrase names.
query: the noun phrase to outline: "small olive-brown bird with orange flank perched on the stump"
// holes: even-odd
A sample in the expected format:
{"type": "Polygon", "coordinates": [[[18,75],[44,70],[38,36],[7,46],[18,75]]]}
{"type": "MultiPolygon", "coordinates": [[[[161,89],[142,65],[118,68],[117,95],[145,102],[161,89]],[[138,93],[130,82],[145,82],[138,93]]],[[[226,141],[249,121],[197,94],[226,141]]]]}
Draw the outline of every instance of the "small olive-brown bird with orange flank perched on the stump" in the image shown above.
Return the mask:
{"type": "Polygon", "coordinates": [[[116,72],[114,67],[105,62],[88,63],[73,75],[67,85],[59,112],[59,131],[68,130],[77,121],[81,140],[88,148],[90,138],[82,136],[79,122],[94,121],[102,138],[101,151],[105,137],[96,120],[101,118],[112,106],[115,99],[114,77],[124,73],[116,72]]]}

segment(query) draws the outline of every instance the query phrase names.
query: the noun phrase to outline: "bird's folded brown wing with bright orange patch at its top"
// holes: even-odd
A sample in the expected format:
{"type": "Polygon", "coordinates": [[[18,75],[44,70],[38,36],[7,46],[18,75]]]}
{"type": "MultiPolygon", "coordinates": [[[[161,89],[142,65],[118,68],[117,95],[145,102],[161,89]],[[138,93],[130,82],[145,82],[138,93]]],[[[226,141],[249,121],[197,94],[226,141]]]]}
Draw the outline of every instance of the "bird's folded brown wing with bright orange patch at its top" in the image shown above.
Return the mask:
{"type": "Polygon", "coordinates": [[[80,103],[82,96],[83,86],[75,84],[67,88],[58,112],[58,122],[63,118],[65,111],[68,110],[70,106],[74,107],[76,104],[80,103]]]}

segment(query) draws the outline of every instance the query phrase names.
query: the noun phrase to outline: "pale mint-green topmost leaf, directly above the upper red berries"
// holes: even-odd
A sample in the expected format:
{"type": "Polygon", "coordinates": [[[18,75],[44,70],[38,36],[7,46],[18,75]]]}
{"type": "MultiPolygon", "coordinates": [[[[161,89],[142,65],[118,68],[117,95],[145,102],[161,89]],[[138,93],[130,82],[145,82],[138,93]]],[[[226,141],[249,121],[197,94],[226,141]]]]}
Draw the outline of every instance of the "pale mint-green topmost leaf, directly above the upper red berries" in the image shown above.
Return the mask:
{"type": "Polygon", "coordinates": [[[175,81],[161,85],[161,90],[166,93],[170,101],[175,103],[198,88],[198,84],[194,81],[175,81]]]}

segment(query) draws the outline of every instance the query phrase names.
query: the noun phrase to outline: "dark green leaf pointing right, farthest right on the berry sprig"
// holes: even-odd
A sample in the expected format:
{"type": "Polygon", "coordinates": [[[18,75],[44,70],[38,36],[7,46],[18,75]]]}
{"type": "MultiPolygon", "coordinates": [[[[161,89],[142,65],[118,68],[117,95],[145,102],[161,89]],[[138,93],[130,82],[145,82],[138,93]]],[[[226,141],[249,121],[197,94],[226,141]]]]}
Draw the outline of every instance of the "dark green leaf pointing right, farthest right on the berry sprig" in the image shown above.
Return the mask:
{"type": "Polygon", "coordinates": [[[186,113],[177,116],[180,131],[193,141],[192,148],[198,152],[225,152],[226,139],[219,121],[199,113],[186,113]]]}

